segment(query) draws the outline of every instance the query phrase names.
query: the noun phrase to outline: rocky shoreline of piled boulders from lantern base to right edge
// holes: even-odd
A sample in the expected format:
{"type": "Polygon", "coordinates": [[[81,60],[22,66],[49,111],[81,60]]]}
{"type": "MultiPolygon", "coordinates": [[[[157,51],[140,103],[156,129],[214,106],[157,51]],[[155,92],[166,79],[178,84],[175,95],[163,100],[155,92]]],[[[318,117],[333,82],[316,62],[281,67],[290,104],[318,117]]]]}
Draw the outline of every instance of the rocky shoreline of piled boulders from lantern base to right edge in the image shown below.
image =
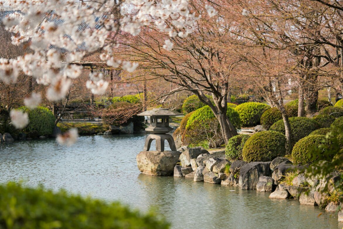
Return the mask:
{"type": "MultiPolygon", "coordinates": [[[[304,166],[292,164],[285,157],[277,157],[269,162],[233,161],[225,158],[225,151],[210,153],[202,147],[181,147],[178,151],[142,151],[137,155],[139,170],[147,175],[173,175],[196,182],[239,186],[244,190],[271,192],[269,198],[297,199],[302,205],[313,205],[325,211],[338,212],[338,221],[343,221],[343,210],[333,202],[328,202],[334,184],[341,179],[339,172],[326,178],[307,177],[304,166]],[[295,176],[284,182],[289,171],[295,176]],[[291,185],[289,185],[291,183],[291,185]],[[328,185],[326,192],[324,187],[328,185]]],[[[341,205],[342,206],[342,205],[341,205]]]]}

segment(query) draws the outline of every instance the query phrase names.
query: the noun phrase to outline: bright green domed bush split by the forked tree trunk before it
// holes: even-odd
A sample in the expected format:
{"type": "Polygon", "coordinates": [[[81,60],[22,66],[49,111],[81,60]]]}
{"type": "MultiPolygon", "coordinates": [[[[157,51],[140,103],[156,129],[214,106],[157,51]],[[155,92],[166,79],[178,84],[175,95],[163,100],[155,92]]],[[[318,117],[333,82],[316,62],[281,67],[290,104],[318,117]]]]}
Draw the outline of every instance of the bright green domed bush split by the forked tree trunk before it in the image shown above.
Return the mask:
{"type": "MultiPolygon", "coordinates": [[[[240,129],[241,122],[239,118],[239,114],[231,107],[227,107],[226,115],[229,118],[230,122],[236,129],[240,129]]],[[[194,121],[204,121],[215,118],[210,106],[204,106],[199,108],[198,110],[194,111],[194,113],[189,117],[186,125],[186,129],[188,126],[192,125],[194,121]]]]}

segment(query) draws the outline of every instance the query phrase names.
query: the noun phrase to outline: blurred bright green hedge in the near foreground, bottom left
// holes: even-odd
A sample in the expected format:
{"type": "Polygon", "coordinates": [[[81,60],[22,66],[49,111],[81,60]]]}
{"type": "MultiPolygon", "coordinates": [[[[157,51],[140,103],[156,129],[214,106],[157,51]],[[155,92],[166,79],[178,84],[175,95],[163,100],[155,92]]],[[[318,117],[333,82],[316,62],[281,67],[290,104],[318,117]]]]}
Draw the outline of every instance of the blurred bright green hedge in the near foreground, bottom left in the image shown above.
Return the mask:
{"type": "Polygon", "coordinates": [[[9,182],[0,185],[0,193],[0,228],[169,228],[152,212],[142,214],[119,202],[69,195],[63,190],[9,182]]]}

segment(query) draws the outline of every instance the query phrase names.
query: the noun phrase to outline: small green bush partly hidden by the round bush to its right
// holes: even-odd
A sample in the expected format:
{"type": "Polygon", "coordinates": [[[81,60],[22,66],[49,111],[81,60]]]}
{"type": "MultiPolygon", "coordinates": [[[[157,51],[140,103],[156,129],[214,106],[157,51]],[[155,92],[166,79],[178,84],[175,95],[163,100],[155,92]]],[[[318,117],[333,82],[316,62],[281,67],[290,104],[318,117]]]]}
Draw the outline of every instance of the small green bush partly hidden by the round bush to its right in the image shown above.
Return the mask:
{"type": "Polygon", "coordinates": [[[243,160],[243,147],[249,138],[250,136],[246,134],[240,134],[230,138],[225,147],[226,159],[230,161],[243,160]]]}

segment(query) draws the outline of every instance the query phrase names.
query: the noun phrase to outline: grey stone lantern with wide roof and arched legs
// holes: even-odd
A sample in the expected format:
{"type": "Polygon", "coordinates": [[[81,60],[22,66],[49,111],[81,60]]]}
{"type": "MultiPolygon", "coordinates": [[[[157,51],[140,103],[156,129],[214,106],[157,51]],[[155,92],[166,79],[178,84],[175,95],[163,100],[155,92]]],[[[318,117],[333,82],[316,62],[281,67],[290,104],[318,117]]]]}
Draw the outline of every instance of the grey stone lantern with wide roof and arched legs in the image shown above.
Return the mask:
{"type": "Polygon", "coordinates": [[[144,111],[139,116],[150,116],[150,126],[145,128],[151,133],[145,140],[144,151],[149,151],[151,142],[156,140],[156,150],[164,151],[164,141],[167,140],[172,151],[176,151],[176,146],[173,136],[167,134],[172,127],[169,126],[169,116],[182,115],[176,111],[170,111],[167,108],[154,108],[151,111],[144,111]]]}

